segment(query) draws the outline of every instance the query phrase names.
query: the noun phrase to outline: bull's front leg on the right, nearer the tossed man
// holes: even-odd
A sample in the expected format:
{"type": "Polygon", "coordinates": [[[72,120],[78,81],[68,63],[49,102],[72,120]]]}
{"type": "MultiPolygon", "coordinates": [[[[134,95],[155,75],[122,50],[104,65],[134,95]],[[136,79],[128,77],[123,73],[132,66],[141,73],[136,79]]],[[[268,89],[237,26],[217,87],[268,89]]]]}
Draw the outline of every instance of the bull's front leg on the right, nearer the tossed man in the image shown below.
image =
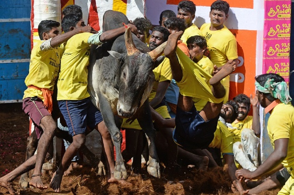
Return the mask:
{"type": "Polygon", "coordinates": [[[149,160],[147,163],[147,171],[150,175],[160,178],[160,167],[159,167],[159,158],[157,156],[155,148],[155,129],[152,123],[152,116],[149,107],[149,102],[146,100],[141,108],[138,110],[138,122],[141,128],[144,130],[147,135],[148,145],[149,145],[149,160]]]}

